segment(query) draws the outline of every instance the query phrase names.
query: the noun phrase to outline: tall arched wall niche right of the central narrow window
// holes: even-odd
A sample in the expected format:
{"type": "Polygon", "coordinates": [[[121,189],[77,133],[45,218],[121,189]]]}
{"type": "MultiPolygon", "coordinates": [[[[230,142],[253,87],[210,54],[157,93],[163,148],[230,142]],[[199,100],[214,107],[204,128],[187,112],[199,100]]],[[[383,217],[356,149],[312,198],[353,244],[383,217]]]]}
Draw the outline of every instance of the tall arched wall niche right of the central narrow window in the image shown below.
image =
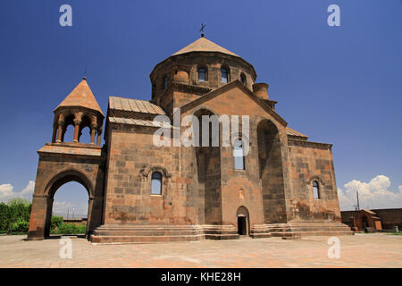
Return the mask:
{"type": "Polygon", "coordinates": [[[257,125],[259,176],[263,192],[264,223],[286,223],[285,187],[279,131],[269,120],[257,125]]]}

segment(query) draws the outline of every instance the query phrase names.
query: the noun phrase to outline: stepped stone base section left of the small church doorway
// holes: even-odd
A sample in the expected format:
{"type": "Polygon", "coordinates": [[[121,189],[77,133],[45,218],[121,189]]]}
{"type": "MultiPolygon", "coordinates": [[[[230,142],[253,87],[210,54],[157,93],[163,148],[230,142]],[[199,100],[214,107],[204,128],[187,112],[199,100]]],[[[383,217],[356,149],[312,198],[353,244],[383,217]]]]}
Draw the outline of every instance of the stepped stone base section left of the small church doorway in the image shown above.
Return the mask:
{"type": "Polygon", "coordinates": [[[167,241],[233,240],[239,234],[231,225],[102,225],[92,243],[155,243],[167,241]]]}

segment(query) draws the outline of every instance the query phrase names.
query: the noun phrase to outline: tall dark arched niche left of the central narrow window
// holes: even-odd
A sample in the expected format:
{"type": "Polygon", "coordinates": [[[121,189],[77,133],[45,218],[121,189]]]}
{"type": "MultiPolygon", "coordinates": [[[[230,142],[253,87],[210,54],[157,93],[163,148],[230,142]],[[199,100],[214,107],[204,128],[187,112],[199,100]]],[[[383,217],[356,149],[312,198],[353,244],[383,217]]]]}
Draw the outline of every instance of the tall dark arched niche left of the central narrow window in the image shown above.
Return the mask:
{"type": "Polygon", "coordinates": [[[222,194],[219,120],[207,109],[198,110],[194,115],[199,122],[199,132],[195,134],[196,142],[198,140],[200,143],[195,148],[198,194],[199,201],[204,205],[200,206],[199,220],[205,224],[220,224],[222,223],[222,194]]]}

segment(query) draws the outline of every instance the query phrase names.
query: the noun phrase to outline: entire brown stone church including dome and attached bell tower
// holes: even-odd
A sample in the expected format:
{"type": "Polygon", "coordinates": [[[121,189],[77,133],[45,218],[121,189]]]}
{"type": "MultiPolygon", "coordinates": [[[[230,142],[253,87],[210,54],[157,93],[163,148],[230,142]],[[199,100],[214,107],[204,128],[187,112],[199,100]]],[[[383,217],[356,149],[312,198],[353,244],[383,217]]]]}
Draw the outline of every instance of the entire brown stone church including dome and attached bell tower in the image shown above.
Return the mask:
{"type": "MultiPolygon", "coordinates": [[[[151,100],[109,97],[106,117],[86,78],[54,109],[52,141],[38,150],[29,240],[49,236],[54,193],[69,181],[88,190],[94,243],[352,233],[340,223],[331,144],[288,126],[251,63],[202,35],[156,64],[150,80],[151,100]],[[247,155],[222,144],[155,146],[155,116],[176,108],[181,117],[247,115],[247,155]],[[90,143],[80,143],[87,127],[90,143]]],[[[219,132],[222,140],[222,124],[219,132]]]]}

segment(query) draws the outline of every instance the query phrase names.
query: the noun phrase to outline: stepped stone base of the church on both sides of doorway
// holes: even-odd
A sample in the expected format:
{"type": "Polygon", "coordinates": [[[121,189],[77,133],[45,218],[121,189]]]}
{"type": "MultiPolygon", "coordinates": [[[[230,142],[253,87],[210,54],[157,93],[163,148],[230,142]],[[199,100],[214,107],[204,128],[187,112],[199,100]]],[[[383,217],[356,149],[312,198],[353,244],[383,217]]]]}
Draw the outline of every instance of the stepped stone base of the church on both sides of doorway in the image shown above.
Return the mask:
{"type": "MultiPolygon", "coordinates": [[[[297,239],[305,236],[353,235],[343,223],[272,223],[255,224],[253,239],[281,237],[297,239]]],[[[167,241],[238,240],[232,225],[102,225],[91,235],[92,243],[155,243],[167,241]]]]}

